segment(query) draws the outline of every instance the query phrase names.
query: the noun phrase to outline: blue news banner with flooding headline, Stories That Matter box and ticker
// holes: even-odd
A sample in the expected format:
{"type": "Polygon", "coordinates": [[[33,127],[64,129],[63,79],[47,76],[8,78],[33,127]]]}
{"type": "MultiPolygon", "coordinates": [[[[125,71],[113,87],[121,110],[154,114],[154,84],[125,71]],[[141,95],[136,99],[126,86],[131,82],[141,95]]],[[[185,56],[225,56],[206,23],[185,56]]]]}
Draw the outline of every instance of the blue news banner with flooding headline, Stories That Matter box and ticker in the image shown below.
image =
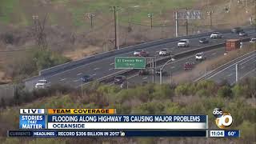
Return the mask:
{"type": "MultiPolygon", "coordinates": [[[[207,116],[206,115],[20,115],[19,129],[8,131],[9,137],[39,137],[39,138],[54,138],[54,137],[207,137],[207,116]],[[152,125],[157,125],[159,122],[166,122],[166,125],[176,125],[175,123],[182,123],[183,130],[178,129],[94,129],[94,130],[47,130],[49,123],[59,122],[83,122],[88,126],[94,122],[127,122],[127,124],[136,122],[152,122],[152,125]],[[201,124],[202,126],[201,126],[201,124]],[[200,128],[192,129],[187,126],[194,126],[199,124],[200,128]],[[47,126],[48,125],[48,126],[47,126]],[[185,128],[184,128],[185,127],[185,128]],[[41,129],[41,130],[40,130],[41,129]],[[45,129],[45,130],[42,130],[45,129]],[[189,130],[190,129],[190,130],[189,130]]],[[[109,124],[108,124],[109,125],[109,124]]],[[[102,125],[104,126],[104,125],[102,125]]],[[[150,126],[150,125],[147,125],[150,126]]]]}

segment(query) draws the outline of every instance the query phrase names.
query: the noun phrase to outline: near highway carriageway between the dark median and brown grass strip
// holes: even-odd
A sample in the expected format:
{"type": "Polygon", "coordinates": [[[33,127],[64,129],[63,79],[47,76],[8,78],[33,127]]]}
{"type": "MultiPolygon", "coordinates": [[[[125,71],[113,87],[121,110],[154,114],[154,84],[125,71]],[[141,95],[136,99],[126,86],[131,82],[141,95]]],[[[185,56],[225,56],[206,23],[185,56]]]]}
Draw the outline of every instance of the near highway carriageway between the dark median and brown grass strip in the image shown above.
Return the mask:
{"type": "MultiPolygon", "coordinates": [[[[212,58],[218,57],[219,55],[224,54],[224,52],[225,52],[225,48],[222,47],[222,48],[219,48],[219,49],[216,49],[216,50],[206,51],[204,54],[206,55],[206,59],[212,59],[212,58]]],[[[163,70],[163,71],[166,71],[167,73],[169,73],[168,76],[163,76],[162,77],[163,82],[168,82],[168,80],[170,80],[170,76],[180,74],[180,72],[184,71],[183,70],[183,65],[184,65],[185,62],[194,62],[195,64],[200,63],[200,62],[197,62],[195,60],[194,55],[191,55],[191,56],[186,57],[186,58],[177,59],[174,62],[170,62],[169,64],[166,65],[165,69],[163,70]],[[172,75],[170,75],[170,72],[171,72],[172,75]]],[[[160,67],[161,66],[158,66],[158,69],[160,67]]],[[[151,71],[152,70],[150,70],[150,72],[151,71]]],[[[159,82],[159,76],[154,75],[154,77],[155,77],[155,82],[159,82]]],[[[152,75],[139,76],[137,74],[137,75],[134,75],[134,76],[131,76],[130,78],[128,78],[128,81],[132,82],[132,83],[141,83],[143,81],[152,82],[153,81],[153,76],[152,75]]]]}

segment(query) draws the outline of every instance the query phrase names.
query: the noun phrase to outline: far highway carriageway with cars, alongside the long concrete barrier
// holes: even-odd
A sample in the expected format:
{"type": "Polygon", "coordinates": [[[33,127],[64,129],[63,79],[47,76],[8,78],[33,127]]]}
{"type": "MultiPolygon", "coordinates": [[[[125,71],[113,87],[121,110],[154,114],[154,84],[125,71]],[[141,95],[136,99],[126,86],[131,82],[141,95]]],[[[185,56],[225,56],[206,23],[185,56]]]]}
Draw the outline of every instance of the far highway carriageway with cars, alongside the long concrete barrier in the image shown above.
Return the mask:
{"type": "MultiPolygon", "coordinates": [[[[250,38],[256,36],[255,30],[247,31],[247,33],[249,34],[250,38]]],[[[201,38],[210,39],[210,36],[201,37],[201,38]]],[[[194,50],[200,47],[222,43],[222,42],[225,42],[226,39],[228,38],[238,38],[238,34],[232,34],[232,33],[223,34],[223,38],[210,39],[210,42],[207,44],[199,43],[198,38],[191,38],[190,47],[186,47],[186,48],[178,48],[177,47],[178,41],[177,41],[177,42],[168,42],[158,46],[148,46],[144,50],[149,52],[150,55],[156,55],[156,52],[161,50],[162,48],[169,48],[170,50],[173,51],[174,54],[178,54],[178,53],[181,53],[182,51],[194,50]]],[[[39,76],[36,78],[31,78],[30,81],[26,82],[26,86],[33,88],[35,83],[38,81],[38,79],[46,79],[48,82],[50,82],[50,84],[61,83],[61,84],[77,87],[82,83],[80,81],[80,78],[82,77],[82,75],[89,74],[93,76],[93,78],[96,80],[106,75],[117,73],[120,70],[114,69],[114,58],[125,57],[125,56],[129,57],[133,55],[133,52],[134,51],[130,51],[129,53],[126,53],[126,54],[118,54],[112,57],[102,58],[98,61],[87,63],[83,66],[78,66],[70,70],[59,72],[58,74],[51,74],[46,77],[39,76]]]]}

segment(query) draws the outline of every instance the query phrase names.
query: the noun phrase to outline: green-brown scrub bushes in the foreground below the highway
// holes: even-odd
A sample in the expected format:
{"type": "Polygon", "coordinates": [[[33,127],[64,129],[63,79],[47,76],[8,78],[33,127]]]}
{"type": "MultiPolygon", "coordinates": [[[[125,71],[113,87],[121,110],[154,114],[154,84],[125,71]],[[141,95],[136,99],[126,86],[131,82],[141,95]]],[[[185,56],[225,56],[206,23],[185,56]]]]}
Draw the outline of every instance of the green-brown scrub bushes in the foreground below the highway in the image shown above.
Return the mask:
{"type": "MultiPolygon", "coordinates": [[[[116,86],[98,85],[94,83],[84,89],[85,94],[74,90],[62,94],[58,90],[54,96],[42,92],[41,96],[28,97],[24,104],[24,98],[15,99],[17,106],[0,109],[0,137],[4,137],[6,130],[18,128],[19,108],[116,108],[117,114],[208,114],[209,128],[217,129],[214,124],[212,111],[215,107],[221,107],[230,112],[234,118],[232,129],[241,130],[242,138],[218,139],[218,138],[193,138],[194,143],[251,143],[256,142],[255,126],[255,85],[256,79],[250,78],[235,86],[226,83],[217,85],[214,82],[204,81],[198,83],[184,83],[178,86],[170,85],[146,85],[136,86],[128,90],[122,90],[116,86]],[[47,97],[48,96],[48,97],[47,97]]],[[[23,95],[25,96],[25,95],[23,95]]],[[[134,140],[136,143],[151,144],[158,138],[46,138],[46,139],[18,139],[2,138],[1,143],[97,143],[117,142],[128,143],[134,140]],[[72,142],[73,142],[72,141],[72,142]]],[[[191,139],[163,138],[165,143],[190,143],[191,139]]]]}

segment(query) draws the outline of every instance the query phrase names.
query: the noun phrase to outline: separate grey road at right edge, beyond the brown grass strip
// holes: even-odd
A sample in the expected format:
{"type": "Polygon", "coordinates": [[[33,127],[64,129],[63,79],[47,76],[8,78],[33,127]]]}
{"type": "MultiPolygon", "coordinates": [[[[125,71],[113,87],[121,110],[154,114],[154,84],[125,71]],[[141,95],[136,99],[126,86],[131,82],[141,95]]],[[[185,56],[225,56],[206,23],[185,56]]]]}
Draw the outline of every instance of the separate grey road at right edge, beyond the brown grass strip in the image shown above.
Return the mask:
{"type": "Polygon", "coordinates": [[[236,64],[238,64],[238,80],[249,76],[256,77],[256,52],[254,51],[253,54],[231,62],[230,65],[224,66],[214,74],[210,74],[207,79],[214,80],[215,82],[226,80],[230,84],[234,84],[236,82],[236,64]]]}

